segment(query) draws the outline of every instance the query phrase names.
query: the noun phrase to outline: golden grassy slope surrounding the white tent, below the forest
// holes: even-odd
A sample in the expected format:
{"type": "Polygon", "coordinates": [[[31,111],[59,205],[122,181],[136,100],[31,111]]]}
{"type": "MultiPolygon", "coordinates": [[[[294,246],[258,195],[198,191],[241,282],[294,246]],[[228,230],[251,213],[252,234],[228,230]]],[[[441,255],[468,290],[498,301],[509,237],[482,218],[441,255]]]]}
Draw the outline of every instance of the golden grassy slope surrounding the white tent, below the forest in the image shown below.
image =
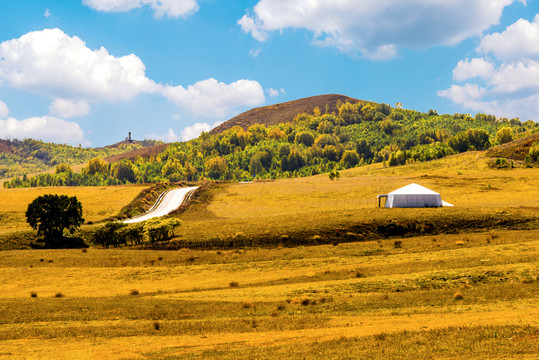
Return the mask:
{"type": "Polygon", "coordinates": [[[371,224],[391,221],[434,226],[447,223],[445,231],[456,232],[469,230],[461,226],[475,227],[471,230],[490,227],[492,221],[536,220],[537,169],[491,169],[489,161],[484,152],[471,152],[394,168],[381,164],[354,168],[342,171],[337,181],[323,174],[223,185],[208,194],[209,204],[192,206],[181,215],[184,224],[180,239],[211,241],[268,234],[307,239],[317,234],[329,236],[335,229],[362,232],[371,224]],[[412,182],[439,192],[455,207],[378,208],[377,194],[412,182]]]}

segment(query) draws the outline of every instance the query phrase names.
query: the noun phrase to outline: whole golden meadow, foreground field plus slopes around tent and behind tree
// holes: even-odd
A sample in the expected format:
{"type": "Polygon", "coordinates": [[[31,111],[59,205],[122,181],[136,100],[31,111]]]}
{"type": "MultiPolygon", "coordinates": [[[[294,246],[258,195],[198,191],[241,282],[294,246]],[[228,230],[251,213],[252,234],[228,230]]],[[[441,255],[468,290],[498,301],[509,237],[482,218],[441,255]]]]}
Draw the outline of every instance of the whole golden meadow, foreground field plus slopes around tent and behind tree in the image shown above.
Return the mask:
{"type": "MultiPolygon", "coordinates": [[[[0,359],[536,359],[539,177],[487,160],[210,186],[174,250],[2,251],[0,359]],[[378,208],[411,182],[455,207],[378,208]]],[[[59,190],[100,220],[120,189],[59,190]]]]}

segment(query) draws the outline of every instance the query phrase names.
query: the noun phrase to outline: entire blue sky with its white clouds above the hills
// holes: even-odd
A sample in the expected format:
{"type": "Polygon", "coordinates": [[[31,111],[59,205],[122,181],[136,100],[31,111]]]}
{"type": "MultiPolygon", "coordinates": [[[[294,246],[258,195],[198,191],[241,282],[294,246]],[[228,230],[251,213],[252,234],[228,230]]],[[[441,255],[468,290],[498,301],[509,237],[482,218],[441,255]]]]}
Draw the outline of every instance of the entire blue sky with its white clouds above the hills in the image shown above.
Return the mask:
{"type": "Polygon", "coordinates": [[[188,140],[339,93],[539,120],[539,1],[0,2],[0,138],[188,140]]]}

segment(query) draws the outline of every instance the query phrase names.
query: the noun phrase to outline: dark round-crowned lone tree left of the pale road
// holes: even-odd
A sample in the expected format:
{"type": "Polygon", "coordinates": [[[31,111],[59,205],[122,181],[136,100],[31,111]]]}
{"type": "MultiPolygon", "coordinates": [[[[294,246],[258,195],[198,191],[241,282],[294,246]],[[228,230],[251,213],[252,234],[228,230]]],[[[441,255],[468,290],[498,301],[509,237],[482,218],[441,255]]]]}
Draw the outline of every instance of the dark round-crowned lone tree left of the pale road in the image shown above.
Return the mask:
{"type": "Polygon", "coordinates": [[[76,196],[38,196],[28,205],[26,220],[38,235],[43,235],[46,247],[66,247],[69,241],[64,230],[73,234],[84,222],[82,204],[76,196]]]}

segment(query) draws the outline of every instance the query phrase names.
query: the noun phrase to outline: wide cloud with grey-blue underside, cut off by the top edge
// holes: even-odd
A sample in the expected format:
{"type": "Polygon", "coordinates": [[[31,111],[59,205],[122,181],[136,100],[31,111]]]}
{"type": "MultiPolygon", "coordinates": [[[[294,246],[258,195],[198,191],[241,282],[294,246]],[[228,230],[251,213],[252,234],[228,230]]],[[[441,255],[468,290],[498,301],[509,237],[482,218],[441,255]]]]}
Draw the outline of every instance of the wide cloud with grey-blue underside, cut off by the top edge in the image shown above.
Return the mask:
{"type": "Polygon", "coordinates": [[[455,45],[481,36],[515,1],[260,0],[238,25],[258,41],[273,31],[305,29],[316,45],[388,59],[399,48],[455,45]]]}

